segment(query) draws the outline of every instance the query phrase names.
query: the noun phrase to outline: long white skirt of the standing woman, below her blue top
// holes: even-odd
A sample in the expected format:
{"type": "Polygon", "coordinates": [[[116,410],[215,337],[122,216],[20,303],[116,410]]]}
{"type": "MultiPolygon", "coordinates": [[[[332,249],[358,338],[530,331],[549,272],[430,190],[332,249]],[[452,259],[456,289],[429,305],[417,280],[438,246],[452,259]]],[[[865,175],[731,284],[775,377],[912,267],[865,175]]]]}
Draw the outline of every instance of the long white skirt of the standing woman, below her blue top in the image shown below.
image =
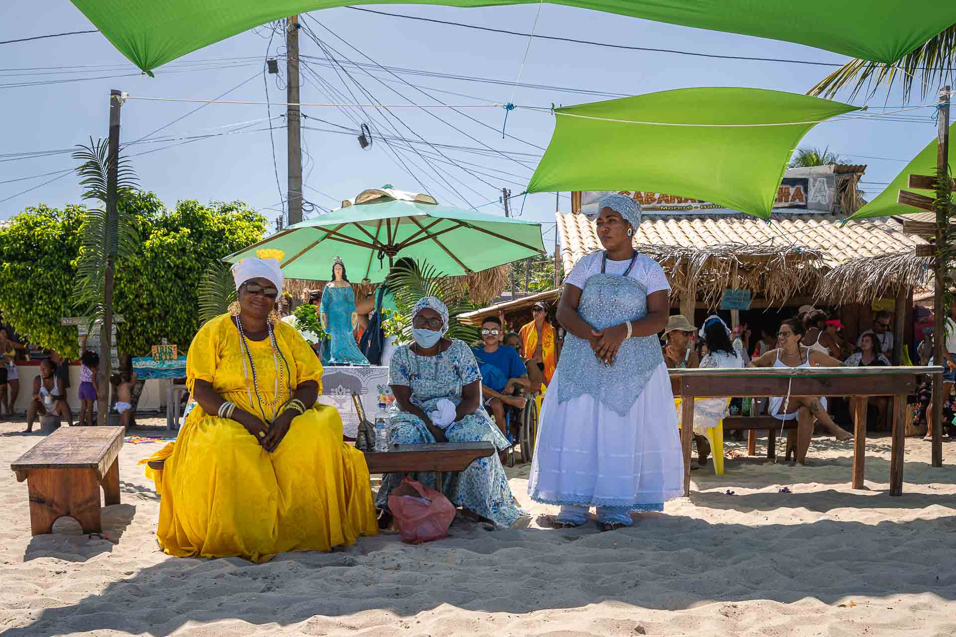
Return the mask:
{"type": "Polygon", "coordinates": [[[532,499],[660,511],[684,495],[684,456],[663,363],[627,415],[588,394],[562,404],[549,392],[539,422],[528,481],[532,499]]]}

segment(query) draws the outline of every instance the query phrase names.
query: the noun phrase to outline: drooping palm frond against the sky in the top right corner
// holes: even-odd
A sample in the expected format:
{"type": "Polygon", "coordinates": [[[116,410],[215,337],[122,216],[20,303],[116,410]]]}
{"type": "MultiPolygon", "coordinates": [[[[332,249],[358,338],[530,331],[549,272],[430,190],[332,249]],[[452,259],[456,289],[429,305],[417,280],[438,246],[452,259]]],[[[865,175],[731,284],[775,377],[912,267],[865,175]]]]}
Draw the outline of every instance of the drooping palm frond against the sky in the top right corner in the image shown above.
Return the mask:
{"type": "MultiPolygon", "coordinates": [[[[821,79],[807,92],[810,96],[833,97],[844,88],[853,86],[852,101],[859,93],[872,97],[885,83],[887,91],[899,81],[903,103],[909,103],[913,83],[919,80],[920,96],[925,98],[934,87],[952,83],[956,66],[956,25],[931,37],[923,46],[902,56],[896,62],[885,64],[868,60],[850,60],[832,74],[821,79]],[[865,91],[864,91],[864,87],[865,91]]],[[[935,97],[935,93],[933,93],[935,97]]]]}

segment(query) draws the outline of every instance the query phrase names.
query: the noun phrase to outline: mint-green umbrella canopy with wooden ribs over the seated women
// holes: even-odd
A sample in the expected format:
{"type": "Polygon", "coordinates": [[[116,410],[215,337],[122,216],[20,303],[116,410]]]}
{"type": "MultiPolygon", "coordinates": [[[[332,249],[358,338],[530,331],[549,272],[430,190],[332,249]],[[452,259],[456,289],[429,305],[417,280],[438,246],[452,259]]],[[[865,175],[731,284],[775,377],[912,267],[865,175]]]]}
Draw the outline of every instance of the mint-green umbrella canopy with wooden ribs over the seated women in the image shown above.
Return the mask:
{"type": "Polygon", "coordinates": [[[445,276],[458,276],[544,254],[540,223],[450,205],[379,201],[296,223],[226,261],[278,249],[287,277],[325,281],[338,256],[351,281],[379,283],[388,274],[389,257],[424,259],[445,276]]]}

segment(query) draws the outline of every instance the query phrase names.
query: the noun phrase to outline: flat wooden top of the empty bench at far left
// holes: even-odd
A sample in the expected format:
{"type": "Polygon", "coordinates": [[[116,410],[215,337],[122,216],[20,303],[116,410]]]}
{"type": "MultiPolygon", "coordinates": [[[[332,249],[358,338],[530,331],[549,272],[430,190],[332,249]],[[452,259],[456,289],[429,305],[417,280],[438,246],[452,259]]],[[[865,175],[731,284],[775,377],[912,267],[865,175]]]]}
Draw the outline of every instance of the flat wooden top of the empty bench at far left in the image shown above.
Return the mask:
{"type": "Polygon", "coordinates": [[[93,469],[101,479],[120,455],[123,433],[122,427],[61,427],[17,458],[11,469],[93,469]]]}

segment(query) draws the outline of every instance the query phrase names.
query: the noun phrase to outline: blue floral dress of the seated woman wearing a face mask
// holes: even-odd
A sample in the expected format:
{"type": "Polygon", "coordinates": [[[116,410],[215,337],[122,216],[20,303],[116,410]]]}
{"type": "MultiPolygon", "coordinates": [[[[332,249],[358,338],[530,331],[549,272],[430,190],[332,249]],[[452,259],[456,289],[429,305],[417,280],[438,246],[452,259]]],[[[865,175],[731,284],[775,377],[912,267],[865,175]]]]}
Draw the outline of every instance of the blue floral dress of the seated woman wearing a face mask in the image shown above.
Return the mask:
{"type": "MultiPolygon", "coordinates": [[[[428,414],[437,409],[438,401],[447,398],[456,406],[462,402],[462,388],[481,380],[474,354],[463,341],[452,341],[451,347],[436,356],[419,356],[402,346],[392,355],[389,371],[390,385],[411,388],[411,402],[428,414]]],[[[390,419],[392,442],[426,444],[435,438],[420,417],[402,412],[398,405],[392,408],[390,419]]],[[[488,440],[498,449],[509,446],[508,439],[494,425],[489,414],[480,408],[451,423],[445,428],[448,442],[488,440]]],[[[388,508],[388,494],[402,483],[402,474],[386,474],[381,481],[376,504],[388,508]]],[[[423,484],[436,488],[434,473],[413,476],[423,484]]],[[[478,458],[465,471],[449,473],[444,481],[445,497],[455,505],[492,520],[498,526],[511,526],[525,511],[519,509],[511,496],[511,487],[505,469],[497,454],[478,458]]]]}

